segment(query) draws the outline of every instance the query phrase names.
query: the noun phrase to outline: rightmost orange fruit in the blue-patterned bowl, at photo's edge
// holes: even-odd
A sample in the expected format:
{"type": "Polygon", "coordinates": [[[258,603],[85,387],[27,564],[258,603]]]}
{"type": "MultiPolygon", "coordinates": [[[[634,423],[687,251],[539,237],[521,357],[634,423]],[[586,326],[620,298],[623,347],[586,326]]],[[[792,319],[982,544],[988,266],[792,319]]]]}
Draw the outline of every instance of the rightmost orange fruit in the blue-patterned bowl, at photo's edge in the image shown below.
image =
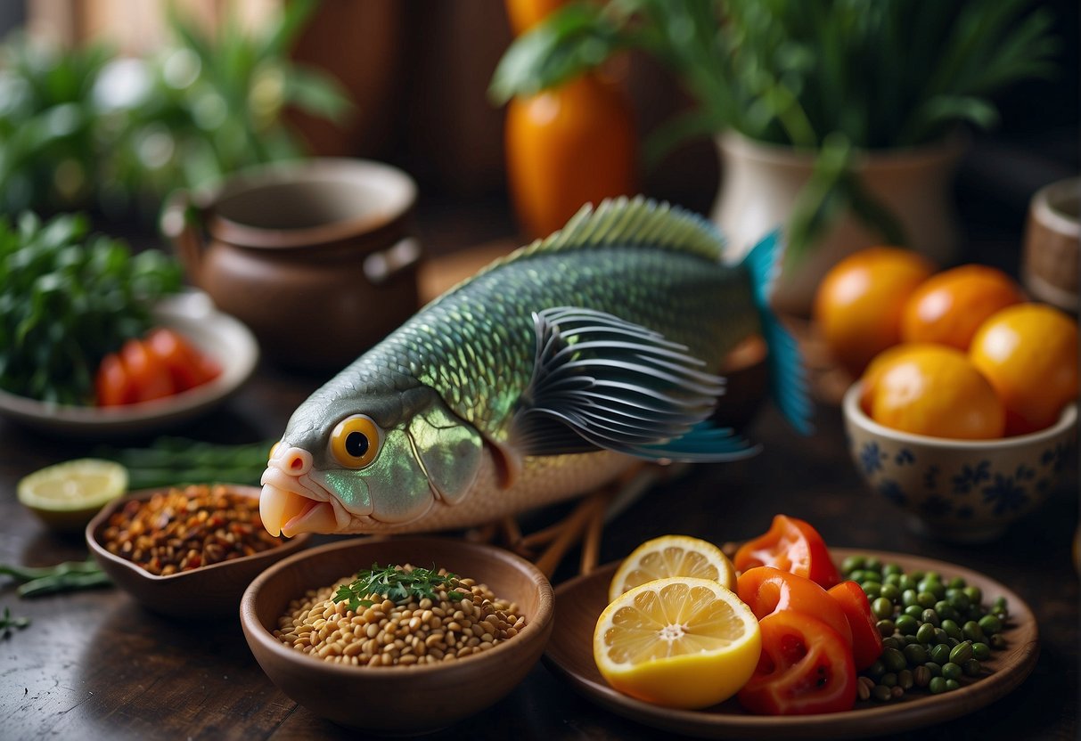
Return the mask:
{"type": "Polygon", "coordinates": [[[1078,395],[1078,325],[1044,304],[996,312],[972,338],[969,355],[1006,409],[1006,434],[1050,427],[1078,395]]]}

